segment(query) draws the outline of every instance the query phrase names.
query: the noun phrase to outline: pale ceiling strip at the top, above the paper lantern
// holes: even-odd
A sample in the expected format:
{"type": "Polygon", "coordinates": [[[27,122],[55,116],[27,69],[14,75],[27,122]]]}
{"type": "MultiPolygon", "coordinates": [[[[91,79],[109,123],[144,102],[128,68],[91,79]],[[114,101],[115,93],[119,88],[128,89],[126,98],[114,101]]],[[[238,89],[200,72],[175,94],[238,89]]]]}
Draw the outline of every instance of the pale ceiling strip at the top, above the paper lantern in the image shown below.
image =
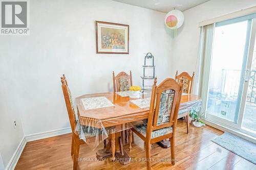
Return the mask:
{"type": "Polygon", "coordinates": [[[113,0],[124,4],[135,5],[160,12],[169,12],[178,9],[185,11],[209,0],[113,0]]]}

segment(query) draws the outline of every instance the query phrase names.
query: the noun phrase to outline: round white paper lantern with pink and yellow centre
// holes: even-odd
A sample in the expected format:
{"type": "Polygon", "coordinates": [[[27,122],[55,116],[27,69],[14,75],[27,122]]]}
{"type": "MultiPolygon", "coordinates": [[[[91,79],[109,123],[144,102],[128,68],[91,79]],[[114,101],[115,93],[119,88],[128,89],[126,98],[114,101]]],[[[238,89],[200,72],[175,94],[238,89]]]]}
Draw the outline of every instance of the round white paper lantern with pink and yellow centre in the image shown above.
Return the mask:
{"type": "Polygon", "coordinates": [[[167,28],[175,30],[182,26],[184,15],[179,10],[172,10],[166,14],[164,22],[167,28]]]}

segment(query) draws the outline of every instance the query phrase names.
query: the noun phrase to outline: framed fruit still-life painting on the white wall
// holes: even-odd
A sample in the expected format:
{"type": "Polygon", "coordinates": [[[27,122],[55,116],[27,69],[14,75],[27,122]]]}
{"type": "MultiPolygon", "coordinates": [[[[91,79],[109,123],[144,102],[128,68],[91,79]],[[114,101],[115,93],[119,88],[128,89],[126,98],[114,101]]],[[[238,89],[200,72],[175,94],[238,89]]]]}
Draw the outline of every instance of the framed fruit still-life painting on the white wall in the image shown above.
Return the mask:
{"type": "Polygon", "coordinates": [[[97,53],[129,54],[129,25],[96,21],[97,53]]]}

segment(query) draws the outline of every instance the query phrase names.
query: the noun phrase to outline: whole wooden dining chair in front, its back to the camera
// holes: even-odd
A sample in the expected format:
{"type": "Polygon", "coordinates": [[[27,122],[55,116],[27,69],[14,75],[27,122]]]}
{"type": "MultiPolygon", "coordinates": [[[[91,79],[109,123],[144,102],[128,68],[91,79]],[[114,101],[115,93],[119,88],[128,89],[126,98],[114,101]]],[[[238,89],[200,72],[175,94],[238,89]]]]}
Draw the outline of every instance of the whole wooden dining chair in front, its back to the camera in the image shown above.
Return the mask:
{"type": "MultiPolygon", "coordinates": [[[[154,81],[150,112],[147,121],[131,130],[146,144],[147,169],[151,169],[151,144],[169,138],[172,164],[175,164],[175,130],[181,102],[183,81],[179,84],[171,78],[165,79],[158,86],[154,81]]],[[[129,138],[130,140],[130,138],[129,138]]],[[[130,141],[129,141],[130,143],[130,141]]],[[[132,146],[130,145],[131,149],[132,146]]]]}

